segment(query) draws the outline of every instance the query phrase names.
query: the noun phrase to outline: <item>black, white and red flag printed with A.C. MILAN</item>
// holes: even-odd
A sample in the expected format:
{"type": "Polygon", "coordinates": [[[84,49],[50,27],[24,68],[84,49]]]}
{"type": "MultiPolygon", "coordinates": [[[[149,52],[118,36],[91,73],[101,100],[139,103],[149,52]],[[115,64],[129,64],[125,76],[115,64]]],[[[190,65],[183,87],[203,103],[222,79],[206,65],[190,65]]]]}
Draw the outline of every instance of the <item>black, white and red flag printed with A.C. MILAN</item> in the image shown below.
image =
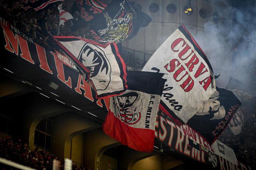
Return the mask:
{"type": "Polygon", "coordinates": [[[104,132],[134,150],[153,152],[155,122],[164,85],[161,73],[127,71],[128,89],[110,99],[104,132]]]}

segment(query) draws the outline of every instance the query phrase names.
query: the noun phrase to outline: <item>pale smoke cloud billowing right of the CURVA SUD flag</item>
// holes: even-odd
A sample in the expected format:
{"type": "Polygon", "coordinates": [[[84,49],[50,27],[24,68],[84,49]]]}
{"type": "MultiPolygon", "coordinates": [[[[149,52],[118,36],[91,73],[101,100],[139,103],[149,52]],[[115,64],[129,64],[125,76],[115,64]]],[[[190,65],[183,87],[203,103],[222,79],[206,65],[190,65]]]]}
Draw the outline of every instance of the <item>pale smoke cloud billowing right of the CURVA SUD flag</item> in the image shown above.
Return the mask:
{"type": "MultiPolygon", "coordinates": [[[[207,54],[218,87],[225,87],[232,76],[245,84],[254,83],[256,73],[256,10],[254,6],[243,9],[222,4],[215,11],[218,22],[204,24],[197,32],[198,44],[207,54]]],[[[212,17],[212,16],[210,16],[212,17]]],[[[254,83],[255,84],[255,83],[254,83]]]]}

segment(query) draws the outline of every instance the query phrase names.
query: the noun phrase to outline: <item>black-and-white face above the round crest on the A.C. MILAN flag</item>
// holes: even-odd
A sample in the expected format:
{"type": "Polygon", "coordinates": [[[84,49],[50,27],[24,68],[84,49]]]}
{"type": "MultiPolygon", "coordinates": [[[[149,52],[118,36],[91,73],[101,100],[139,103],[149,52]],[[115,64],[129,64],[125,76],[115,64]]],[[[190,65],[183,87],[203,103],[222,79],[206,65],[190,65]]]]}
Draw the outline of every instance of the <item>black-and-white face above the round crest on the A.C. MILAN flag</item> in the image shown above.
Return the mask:
{"type": "Polygon", "coordinates": [[[124,112],[125,114],[142,112],[142,100],[137,91],[129,91],[116,98],[120,112],[124,112]]]}

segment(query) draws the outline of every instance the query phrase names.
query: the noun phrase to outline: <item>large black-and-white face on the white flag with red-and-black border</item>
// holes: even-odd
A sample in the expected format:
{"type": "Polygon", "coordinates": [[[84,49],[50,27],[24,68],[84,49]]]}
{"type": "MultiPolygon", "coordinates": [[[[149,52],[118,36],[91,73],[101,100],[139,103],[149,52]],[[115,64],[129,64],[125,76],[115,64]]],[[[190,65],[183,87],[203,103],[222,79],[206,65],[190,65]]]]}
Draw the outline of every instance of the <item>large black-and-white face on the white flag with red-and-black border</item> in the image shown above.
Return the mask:
{"type": "Polygon", "coordinates": [[[96,90],[105,90],[109,86],[111,67],[104,51],[86,43],[80,51],[78,60],[82,60],[83,65],[90,70],[90,79],[96,90]]]}

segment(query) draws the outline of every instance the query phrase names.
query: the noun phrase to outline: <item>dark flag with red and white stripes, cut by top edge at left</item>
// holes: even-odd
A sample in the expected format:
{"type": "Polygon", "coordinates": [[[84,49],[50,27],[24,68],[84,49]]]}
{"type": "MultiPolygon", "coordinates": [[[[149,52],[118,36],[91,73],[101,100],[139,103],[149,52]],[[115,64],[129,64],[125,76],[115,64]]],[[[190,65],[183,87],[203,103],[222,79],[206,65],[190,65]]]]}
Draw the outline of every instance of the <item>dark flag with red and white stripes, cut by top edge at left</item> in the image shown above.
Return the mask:
{"type": "Polygon", "coordinates": [[[63,1],[65,0],[23,0],[22,3],[25,11],[28,9],[39,11],[63,1]]]}

